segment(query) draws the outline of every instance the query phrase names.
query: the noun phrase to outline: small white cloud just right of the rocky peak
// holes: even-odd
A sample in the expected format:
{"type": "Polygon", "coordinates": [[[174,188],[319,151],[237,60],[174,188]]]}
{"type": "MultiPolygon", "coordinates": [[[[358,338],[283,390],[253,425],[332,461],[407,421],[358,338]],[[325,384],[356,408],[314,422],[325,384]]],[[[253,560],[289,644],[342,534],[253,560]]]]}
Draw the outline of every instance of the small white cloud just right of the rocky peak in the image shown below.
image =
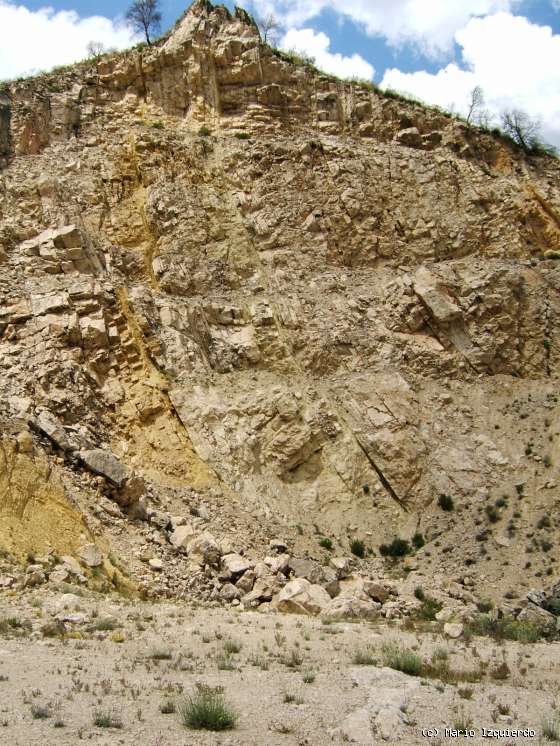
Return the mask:
{"type": "Polygon", "coordinates": [[[343,57],[339,53],[329,52],[330,39],[322,31],[313,29],[290,29],[284,36],[281,46],[284,49],[305,52],[315,58],[317,67],[341,78],[367,78],[372,80],[375,69],[359,54],[343,57]]]}

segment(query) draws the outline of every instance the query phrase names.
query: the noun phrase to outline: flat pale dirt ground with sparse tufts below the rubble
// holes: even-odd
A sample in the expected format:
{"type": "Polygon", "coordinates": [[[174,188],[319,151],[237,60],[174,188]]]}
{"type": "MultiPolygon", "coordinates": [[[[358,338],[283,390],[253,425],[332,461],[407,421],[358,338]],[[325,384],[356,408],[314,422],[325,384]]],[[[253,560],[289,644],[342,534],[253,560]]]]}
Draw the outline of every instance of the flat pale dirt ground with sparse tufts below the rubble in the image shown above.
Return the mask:
{"type": "Polygon", "coordinates": [[[558,643],[450,640],[400,623],[326,624],[81,594],[0,598],[1,744],[460,740],[446,727],[474,731],[469,743],[537,744],[558,732],[558,643]],[[391,645],[421,658],[419,675],[390,667],[391,645]],[[197,683],[223,687],[238,715],[234,729],[193,731],[182,724],[181,704],[197,683]],[[162,707],[175,712],[164,714],[162,707]],[[119,727],[99,727],[99,715],[119,727]],[[535,735],[483,738],[483,727],[528,728],[535,735]]]}

